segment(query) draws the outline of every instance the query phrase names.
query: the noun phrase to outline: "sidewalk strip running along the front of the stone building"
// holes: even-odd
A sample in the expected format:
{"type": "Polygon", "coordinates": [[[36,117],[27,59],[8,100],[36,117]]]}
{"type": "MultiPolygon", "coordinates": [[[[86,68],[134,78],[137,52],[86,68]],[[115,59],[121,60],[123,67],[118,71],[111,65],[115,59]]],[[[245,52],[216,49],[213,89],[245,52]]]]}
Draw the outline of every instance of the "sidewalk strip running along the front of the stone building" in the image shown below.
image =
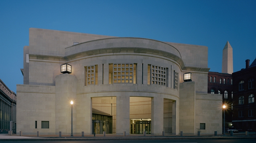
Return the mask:
{"type": "Polygon", "coordinates": [[[154,135],[137,135],[137,134],[132,134],[132,135],[115,135],[115,134],[106,134],[104,137],[103,135],[85,135],[82,137],[81,135],[74,135],[71,137],[70,135],[62,135],[62,137],[59,137],[59,135],[40,135],[39,137],[37,135],[23,135],[23,136],[18,136],[18,135],[8,135],[8,134],[0,134],[0,141],[4,140],[67,140],[71,141],[72,139],[76,140],[129,140],[129,139],[234,139],[234,138],[255,138],[256,139],[256,134],[255,133],[249,133],[249,135],[245,135],[245,133],[234,133],[233,136],[230,136],[229,133],[226,133],[226,135],[201,135],[201,136],[196,136],[196,135],[165,135],[165,136],[154,136],[154,135]]]}

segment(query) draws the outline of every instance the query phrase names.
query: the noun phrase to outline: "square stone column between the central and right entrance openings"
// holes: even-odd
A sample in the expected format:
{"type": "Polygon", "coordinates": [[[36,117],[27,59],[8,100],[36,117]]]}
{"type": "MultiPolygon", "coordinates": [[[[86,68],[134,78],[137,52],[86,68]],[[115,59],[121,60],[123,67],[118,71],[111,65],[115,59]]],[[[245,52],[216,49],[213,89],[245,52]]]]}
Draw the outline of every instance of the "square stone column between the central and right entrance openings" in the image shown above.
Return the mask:
{"type": "Polygon", "coordinates": [[[151,100],[151,135],[162,135],[164,131],[164,98],[151,100]]]}

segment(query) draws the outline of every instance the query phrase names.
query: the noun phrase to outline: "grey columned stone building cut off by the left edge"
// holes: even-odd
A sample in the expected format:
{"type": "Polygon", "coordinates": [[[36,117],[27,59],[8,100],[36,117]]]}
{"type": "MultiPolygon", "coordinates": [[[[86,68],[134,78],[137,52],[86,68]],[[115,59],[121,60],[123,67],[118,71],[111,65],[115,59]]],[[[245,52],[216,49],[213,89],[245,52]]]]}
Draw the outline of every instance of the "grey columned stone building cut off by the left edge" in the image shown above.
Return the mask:
{"type": "Polygon", "coordinates": [[[16,133],[16,94],[0,79],[0,133],[10,130],[16,133]]]}

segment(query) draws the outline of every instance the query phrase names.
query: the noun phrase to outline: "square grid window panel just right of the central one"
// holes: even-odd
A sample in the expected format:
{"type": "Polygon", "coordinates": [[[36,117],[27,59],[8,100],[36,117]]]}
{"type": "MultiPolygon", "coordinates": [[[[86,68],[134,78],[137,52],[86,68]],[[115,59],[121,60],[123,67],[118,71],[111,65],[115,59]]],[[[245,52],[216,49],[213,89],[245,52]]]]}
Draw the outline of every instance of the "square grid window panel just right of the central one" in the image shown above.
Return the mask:
{"type": "Polygon", "coordinates": [[[166,86],[166,68],[151,65],[151,84],[166,86]]]}

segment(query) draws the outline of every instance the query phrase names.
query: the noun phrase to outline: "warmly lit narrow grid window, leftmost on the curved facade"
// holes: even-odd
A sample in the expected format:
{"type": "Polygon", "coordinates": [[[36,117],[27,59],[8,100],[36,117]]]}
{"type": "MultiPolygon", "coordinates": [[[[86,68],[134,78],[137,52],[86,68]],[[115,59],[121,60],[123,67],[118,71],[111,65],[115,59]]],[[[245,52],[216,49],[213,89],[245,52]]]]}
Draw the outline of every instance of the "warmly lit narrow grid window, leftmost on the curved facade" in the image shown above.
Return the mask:
{"type": "Polygon", "coordinates": [[[86,69],[85,85],[97,85],[98,84],[98,65],[87,66],[85,69],[86,69]]]}

